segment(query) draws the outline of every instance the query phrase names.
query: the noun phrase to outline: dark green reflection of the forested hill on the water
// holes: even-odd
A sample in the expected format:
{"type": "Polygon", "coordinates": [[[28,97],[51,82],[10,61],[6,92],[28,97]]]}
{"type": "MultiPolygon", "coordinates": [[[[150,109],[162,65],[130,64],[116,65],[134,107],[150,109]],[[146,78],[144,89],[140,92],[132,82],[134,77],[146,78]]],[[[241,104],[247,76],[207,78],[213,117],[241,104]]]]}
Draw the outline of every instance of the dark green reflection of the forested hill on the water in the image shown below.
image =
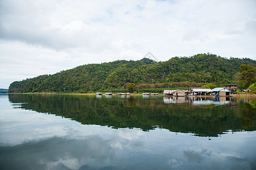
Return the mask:
{"type": "Polygon", "coordinates": [[[227,130],[256,129],[255,107],[230,98],[217,101],[214,97],[113,96],[96,99],[79,95],[9,95],[9,100],[19,103],[22,109],[71,118],[84,125],[144,131],[158,127],[206,137],[218,137],[227,130]]]}

